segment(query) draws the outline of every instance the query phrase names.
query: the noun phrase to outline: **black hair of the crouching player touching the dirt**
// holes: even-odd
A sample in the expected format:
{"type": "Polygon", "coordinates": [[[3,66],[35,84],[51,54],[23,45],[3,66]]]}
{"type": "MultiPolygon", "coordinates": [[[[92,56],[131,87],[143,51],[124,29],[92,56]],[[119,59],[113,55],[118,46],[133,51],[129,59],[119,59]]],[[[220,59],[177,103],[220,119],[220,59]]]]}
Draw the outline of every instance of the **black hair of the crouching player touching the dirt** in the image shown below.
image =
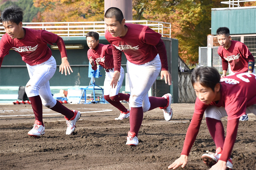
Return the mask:
{"type": "Polygon", "coordinates": [[[199,83],[206,88],[214,88],[217,83],[220,83],[220,73],[214,67],[199,67],[194,69],[191,75],[191,83],[199,83]]]}

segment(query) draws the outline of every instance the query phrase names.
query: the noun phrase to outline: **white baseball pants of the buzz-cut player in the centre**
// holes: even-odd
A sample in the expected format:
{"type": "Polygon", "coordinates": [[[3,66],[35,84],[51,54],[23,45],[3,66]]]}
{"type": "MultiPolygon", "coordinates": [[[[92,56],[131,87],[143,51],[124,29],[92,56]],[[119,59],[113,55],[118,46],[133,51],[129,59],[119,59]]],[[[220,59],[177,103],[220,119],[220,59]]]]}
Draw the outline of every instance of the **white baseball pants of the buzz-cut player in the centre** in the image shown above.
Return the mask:
{"type": "Polygon", "coordinates": [[[127,61],[127,73],[130,85],[131,96],[130,107],[143,107],[143,112],[148,111],[150,102],[148,91],[156,81],[161,71],[161,61],[159,55],[145,64],[133,64],[127,61]]]}

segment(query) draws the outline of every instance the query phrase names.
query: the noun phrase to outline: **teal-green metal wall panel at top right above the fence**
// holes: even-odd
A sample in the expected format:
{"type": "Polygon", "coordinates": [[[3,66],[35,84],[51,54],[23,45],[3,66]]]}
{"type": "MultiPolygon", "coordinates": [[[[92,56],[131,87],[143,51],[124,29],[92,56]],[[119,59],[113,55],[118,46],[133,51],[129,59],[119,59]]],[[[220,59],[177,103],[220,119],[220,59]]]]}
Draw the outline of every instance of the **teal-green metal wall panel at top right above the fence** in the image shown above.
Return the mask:
{"type": "Polygon", "coordinates": [[[228,27],[230,34],[256,33],[256,7],[212,8],[211,34],[228,27]]]}

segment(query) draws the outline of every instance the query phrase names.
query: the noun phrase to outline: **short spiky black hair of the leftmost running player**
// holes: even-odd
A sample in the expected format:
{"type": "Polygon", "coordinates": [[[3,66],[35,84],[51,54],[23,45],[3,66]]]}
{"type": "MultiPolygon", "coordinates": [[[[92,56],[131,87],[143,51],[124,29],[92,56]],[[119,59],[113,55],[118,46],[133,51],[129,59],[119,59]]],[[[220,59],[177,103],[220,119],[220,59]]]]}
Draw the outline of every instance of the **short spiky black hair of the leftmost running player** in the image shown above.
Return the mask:
{"type": "Polygon", "coordinates": [[[23,20],[23,10],[16,5],[11,5],[1,12],[0,22],[16,23],[17,25],[23,20]]]}

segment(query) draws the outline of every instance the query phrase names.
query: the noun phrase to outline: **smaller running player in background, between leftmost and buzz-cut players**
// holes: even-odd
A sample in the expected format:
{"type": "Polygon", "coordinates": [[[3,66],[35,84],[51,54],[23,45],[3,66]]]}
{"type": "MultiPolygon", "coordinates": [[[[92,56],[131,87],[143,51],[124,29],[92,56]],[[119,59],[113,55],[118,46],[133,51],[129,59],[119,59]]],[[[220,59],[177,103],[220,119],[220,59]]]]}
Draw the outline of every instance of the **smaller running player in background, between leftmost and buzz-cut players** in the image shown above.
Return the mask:
{"type": "Polygon", "coordinates": [[[104,99],[119,109],[121,112],[118,118],[115,120],[122,120],[130,116],[130,111],[120,103],[121,100],[129,101],[130,94],[119,93],[119,90],[123,83],[124,70],[121,67],[121,74],[118,79],[115,88],[111,88],[110,82],[114,74],[114,62],[112,47],[110,44],[104,45],[99,43],[99,34],[94,31],[90,31],[86,34],[87,45],[90,48],[87,51],[87,57],[93,70],[97,70],[97,65],[101,65],[106,72],[104,80],[104,99]]]}

